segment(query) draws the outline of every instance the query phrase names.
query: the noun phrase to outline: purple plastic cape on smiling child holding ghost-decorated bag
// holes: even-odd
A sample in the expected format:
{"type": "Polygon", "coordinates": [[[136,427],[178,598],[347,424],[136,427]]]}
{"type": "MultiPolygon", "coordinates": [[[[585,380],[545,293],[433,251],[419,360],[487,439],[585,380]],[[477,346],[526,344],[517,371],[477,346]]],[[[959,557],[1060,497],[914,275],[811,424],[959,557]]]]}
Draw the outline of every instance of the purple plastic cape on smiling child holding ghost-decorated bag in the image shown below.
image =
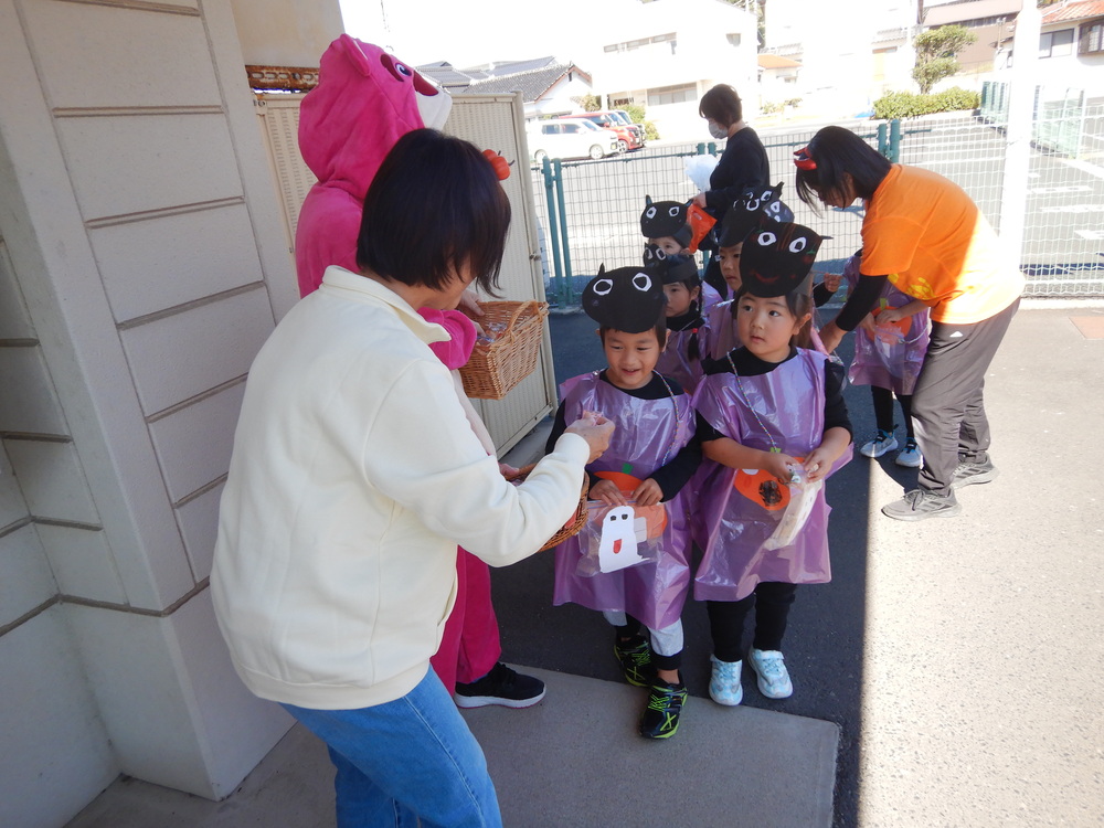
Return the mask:
{"type": "MultiPolygon", "coordinates": [[[[645,480],[670,463],[693,435],[690,396],[639,400],[598,378],[583,374],[560,386],[564,416],[571,423],[583,411],[597,411],[617,427],[609,448],[587,466],[590,471],[620,471],[645,480]]],[[[665,505],[667,528],[659,556],[616,572],[583,575],[578,538],[555,548],[555,584],[552,603],[573,602],[591,609],[626,612],[651,629],[673,624],[690,592],[690,528],[683,492],[665,505]]],[[[585,569],[585,567],[584,567],[585,569]]]]}

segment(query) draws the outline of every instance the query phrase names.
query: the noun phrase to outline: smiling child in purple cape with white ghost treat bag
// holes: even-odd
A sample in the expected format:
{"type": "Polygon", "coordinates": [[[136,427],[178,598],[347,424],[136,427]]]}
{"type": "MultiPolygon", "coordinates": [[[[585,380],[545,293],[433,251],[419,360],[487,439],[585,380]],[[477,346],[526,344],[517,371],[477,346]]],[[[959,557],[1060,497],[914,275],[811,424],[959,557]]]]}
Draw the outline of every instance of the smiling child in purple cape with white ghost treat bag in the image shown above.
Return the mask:
{"type": "MultiPolygon", "coordinates": [[[[576,412],[602,413],[616,429],[606,453],[586,467],[592,500],[613,507],[611,516],[625,512],[630,532],[640,520],[636,508],[665,507],[666,527],[658,537],[657,556],[645,562],[625,569],[595,567],[583,535],[569,538],[555,549],[553,603],[574,602],[597,609],[615,627],[614,654],[625,679],[649,688],[640,719],[640,734],[647,739],[675,735],[687,698],[679,672],[682,606],[690,591],[683,486],[701,460],[689,395],[678,382],[655,371],[667,341],[664,302],[654,270],[599,269],[583,291],[583,309],[601,326],[608,368],[563,383],[549,437],[551,447],[576,412]],[[631,514],[623,509],[629,502],[634,503],[631,514]]],[[[605,530],[607,523],[602,526],[605,530]]],[[[635,550],[638,539],[625,535],[626,546],[635,550]]],[[[602,543],[606,540],[603,531],[602,543]]]]}

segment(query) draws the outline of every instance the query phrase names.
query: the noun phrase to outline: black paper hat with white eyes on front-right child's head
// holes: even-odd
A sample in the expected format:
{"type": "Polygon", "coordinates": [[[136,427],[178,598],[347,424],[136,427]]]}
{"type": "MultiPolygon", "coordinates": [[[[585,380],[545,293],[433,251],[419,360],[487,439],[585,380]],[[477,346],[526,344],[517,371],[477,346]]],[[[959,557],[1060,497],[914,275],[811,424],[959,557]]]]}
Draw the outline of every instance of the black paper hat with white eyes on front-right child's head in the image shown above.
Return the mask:
{"type": "Polygon", "coordinates": [[[822,241],[800,224],[764,216],[740,252],[743,289],[764,299],[790,293],[809,275],[822,241]]]}

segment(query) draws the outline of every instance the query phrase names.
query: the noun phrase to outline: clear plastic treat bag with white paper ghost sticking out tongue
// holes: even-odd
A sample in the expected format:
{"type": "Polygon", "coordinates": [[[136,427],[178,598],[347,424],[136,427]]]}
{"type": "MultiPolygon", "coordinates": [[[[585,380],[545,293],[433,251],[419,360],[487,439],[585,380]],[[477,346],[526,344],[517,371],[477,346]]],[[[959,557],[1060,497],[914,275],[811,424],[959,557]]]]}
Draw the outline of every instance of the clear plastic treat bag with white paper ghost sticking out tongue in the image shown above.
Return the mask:
{"type": "Polygon", "coordinates": [[[636,506],[629,499],[627,506],[606,506],[592,500],[578,533],[583,556],[577,573],[593,577],[656,561],[666,527],[667,508],[662,503],[636,506]]]}

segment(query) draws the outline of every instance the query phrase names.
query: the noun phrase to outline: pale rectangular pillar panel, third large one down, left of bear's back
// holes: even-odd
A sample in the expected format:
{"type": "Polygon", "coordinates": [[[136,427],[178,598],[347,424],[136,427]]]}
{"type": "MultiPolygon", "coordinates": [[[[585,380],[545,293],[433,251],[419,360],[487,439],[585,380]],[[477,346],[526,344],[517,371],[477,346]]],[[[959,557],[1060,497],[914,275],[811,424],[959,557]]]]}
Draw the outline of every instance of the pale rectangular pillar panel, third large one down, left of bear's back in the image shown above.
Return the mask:
{"type": "Polygon", "coordinates": [[[88,237],[118,322],[262,278],[244,203],[97,227],[88,237]]]}

